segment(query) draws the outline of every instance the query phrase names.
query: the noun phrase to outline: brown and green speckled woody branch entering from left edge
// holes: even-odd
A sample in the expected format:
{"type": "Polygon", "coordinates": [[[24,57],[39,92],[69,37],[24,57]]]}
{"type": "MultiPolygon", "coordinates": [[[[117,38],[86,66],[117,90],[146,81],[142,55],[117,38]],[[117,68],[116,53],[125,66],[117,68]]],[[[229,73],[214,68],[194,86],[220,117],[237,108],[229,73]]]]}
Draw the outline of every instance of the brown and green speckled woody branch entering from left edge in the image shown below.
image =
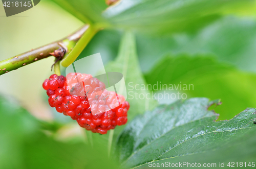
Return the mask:
{"type": "Polygon", "coordinates": [[[62,44],[64,44],[68,48],[68,51],[66,52],[66,55],[68,55],[77,43],[77,41],[80,39],[82,34],[88,31],[88,28],[90,28],[89,25],[85,25],[81,29],[79,29],[78,31],[76,31],[75,33],[66,38],[63,38],[59,41],[38,47],[37,49],[30,50],[23,54],[19,54],[9,59],[1,61],[0,75],[8,73],[9,71],[15,70],[19,67],[26,66],[40,59],[49,57],[51,56],[51,54],[49,53],[59,49],[59,47],[62,47],[62,44]]]}

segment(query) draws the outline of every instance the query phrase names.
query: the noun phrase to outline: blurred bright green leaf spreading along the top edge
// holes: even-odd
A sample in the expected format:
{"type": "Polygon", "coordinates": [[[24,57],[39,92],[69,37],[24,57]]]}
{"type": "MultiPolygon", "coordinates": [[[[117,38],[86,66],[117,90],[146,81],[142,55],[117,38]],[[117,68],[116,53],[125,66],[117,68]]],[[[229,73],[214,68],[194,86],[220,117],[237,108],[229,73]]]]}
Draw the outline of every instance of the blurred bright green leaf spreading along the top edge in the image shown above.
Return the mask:
{"type": "Polygon", "coordinates": [[[196,31],[223,15],[255,10],[252,0],[122,0],[109,8],[103,0],[52,1],[83,22],[161,34],[196,31]]]}

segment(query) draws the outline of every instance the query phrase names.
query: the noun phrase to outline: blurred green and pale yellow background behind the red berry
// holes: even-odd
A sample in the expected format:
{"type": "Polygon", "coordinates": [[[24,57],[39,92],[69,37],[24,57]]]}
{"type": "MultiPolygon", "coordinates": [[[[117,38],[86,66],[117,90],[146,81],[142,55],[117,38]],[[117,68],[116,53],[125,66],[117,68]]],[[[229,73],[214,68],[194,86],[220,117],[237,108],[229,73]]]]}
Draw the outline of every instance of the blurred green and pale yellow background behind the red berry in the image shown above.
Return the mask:
{"type": "MultiPolygon", "coordinates": [[[[136,36],[141,82],[193,84],[194,90],[181,92],[188,98],[221,99],[223,105],[215,109],[220,120],[256,107],[255,1],[199,1],[183,8],[165,1],[139,5],[131,1],[130,6],[123,5],[127,10],[110,7],[102,18],[97,10],[106,8],[104,1],[91,1],[90,8],[88,2],[43,0],[10,17],[0,5],[0,60],[67,36],[83,25],[82,14],[93,21],[108,20],[112,26],[96,34],[80,58],[100,53],[107,66],[118,55],[123,30],[131,29],[136,36]]],[[[0,168],[84,168],[98,160],[93,157],[100,153],[88,146],[84,131],[47,103],[41,84],[53,74],[53,61],[50,57],[0,77],[0,168]]],[[[108,135],[96,139],[104,142],[108,135]]],[[[105,145],[102,147],[106,154],[105,145]]],[[[115,167],[115,162],[106,163],[115,167]]],[[[89,168],[104,166],[98,165],[89,168]]]]}

